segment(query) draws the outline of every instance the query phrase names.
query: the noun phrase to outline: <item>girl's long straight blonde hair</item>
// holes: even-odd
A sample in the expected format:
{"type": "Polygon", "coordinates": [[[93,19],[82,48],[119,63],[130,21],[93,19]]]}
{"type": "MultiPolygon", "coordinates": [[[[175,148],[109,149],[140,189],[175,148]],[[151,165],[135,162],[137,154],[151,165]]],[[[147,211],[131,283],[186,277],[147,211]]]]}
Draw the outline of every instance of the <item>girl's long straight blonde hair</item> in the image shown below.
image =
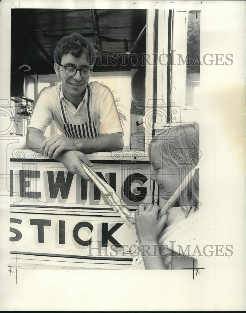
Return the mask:
{"type": "MultiPolygon", "coordinates": [[[[199,124],[188,123],[168,128],[153,137],[150,149],[165,167],[181,168],[185,175],[193,169],[201,157],[199,150],[199,124]]],[[[193,207],[199,204],[199,170],[183,191],[183,196],[192,199],[193,207]]],[[[182,208],[182,207],[181,207],[182,208]]],[[[187,211],[187,209],[182,208],[187,211]]]]}

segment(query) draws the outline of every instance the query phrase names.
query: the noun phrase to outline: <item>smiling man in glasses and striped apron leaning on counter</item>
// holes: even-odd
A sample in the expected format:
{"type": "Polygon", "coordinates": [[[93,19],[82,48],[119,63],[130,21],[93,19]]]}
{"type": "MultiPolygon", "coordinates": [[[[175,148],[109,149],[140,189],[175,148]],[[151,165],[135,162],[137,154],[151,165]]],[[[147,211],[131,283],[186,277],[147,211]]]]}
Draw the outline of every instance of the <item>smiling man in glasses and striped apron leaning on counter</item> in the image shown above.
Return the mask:
{"type": "Polygon", "coordinates": [[[35,102],[26,144],[43,148],[49,158],[63,162],[69,172],[87,180],[81,162],[92,166],[84,153],[123,148],[123,130],[112,92],[88,80],[95,51],[78,33],[63,37],[54,50],[54,70],[61,80],[44,88],[35,102]],[[43,134],[52,121],[62,136],[43,134]]]}

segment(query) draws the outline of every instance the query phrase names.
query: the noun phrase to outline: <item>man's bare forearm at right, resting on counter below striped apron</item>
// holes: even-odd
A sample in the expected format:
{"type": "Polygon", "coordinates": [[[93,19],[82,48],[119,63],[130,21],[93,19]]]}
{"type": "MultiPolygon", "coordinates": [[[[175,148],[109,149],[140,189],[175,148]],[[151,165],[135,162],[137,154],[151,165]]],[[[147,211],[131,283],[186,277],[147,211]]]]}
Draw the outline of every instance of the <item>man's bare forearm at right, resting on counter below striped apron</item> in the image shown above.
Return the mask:
{"type": "Polygon", "coordinates": [[[111,152],[113,150],[122,150],[123,134],[115,133],[96,138],[81,138],[76,140],[76,149],[84,153],[93,152],[111,152]]]}

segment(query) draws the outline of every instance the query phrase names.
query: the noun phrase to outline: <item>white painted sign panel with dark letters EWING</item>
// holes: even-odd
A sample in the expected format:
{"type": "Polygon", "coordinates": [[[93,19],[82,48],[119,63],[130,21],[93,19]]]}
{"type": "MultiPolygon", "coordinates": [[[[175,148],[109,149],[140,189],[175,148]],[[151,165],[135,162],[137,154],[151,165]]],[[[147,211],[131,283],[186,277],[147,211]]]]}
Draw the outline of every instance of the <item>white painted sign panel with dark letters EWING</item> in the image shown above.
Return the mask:
{"type": "MultiPolygon", "coordinates": [[[[150,166],[95,164],[94,171],[121,197],[122,204],[136,207],[148,201],[150,166]]],[[[106,205],[94,183],[68,172],[61,163],[11,162],[10,195],[15,205],[106,205]]]]}

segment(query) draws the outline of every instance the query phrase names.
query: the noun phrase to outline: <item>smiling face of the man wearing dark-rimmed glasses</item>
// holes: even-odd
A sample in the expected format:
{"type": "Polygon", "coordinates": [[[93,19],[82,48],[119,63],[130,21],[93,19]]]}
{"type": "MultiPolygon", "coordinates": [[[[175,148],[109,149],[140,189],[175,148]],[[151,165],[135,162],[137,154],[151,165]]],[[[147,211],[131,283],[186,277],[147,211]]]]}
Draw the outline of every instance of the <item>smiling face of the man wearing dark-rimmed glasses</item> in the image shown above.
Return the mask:
{"type": "MultiPolygon", "coordinates": [[[[76,69],[91,68],[86,54],[82,54],[80,57],[75,57],[72,54],[64,54],[61,59],[61,64],[64,66],[73,66],[76,69]]],[[[90,76],[88,78],[83,78],[81,77],[80,72],[77,71],[73,77],[70,77],[66,74],[65,69],[61,65],[59,65],[59,67],[57,65],[55,65],[55,70],[62,82],[63,94],[65,97],[79,97],[83,94],[90,76]]]]}

